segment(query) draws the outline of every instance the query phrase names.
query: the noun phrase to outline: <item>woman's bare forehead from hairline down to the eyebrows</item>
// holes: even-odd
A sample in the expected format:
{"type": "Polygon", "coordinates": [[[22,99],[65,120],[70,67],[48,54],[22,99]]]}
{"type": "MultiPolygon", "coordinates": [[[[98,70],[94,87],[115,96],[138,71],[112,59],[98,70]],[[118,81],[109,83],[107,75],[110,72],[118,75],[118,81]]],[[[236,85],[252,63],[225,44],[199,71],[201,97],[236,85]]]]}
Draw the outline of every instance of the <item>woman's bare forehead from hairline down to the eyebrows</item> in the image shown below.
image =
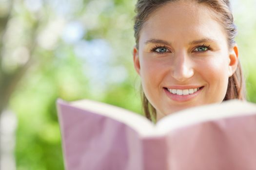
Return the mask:
{"type": "Polygon", "coordinates": [[[226,38],[215,11],[194,0],[169,2],[158,8],[141,29],[140,38],[145,35],[151,38],[180,37],[188,41],[197,39],[198,36],[226,38]]]}

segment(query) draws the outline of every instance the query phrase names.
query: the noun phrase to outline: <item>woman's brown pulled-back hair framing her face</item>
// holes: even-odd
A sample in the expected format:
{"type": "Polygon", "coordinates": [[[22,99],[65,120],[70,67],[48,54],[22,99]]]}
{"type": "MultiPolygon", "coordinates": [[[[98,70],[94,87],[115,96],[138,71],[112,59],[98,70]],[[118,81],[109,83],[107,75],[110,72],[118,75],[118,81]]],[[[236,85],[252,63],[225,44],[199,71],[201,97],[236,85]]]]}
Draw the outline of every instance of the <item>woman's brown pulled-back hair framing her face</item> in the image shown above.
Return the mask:
{"type": "MultiPolygon", "coordinates": [[[[136,47],[138,49],[138,40],[140,30],[146,20],[150,17],[150,15],[156,11],[158,8],[163,6],[169,2],[175,2],[177,0],[138,0],[136,4],[136,17],[135,17],[135,38],[136,38],[136,47]]],[[[234,24],[234,18],[231,12],[231,6],[229,0],[196,0],[197,3],[204,3],[208,7],[214,9],[217,14],[218,20],[222,24],[223,28],[225,28],[227,33],[227,40],[229,43],[229,47],[235,45],[235,37],[237,34],[236,25],[234,24]]],[[[156,119],[156,109],[151,105],[151,103],[147,100],[142,87],[141,87],[141,99],[143,105],[143,111],[145,116],[152,120],[156,119]]],[[[245,83],[242,74],[242,69],[240,62],[238,61],[238,66],[236,72],[229,78],[228,88],[226,92],[226,96],[224,101],[238,99],[245,100],[246,99],[246,90],[245,83]]]]}

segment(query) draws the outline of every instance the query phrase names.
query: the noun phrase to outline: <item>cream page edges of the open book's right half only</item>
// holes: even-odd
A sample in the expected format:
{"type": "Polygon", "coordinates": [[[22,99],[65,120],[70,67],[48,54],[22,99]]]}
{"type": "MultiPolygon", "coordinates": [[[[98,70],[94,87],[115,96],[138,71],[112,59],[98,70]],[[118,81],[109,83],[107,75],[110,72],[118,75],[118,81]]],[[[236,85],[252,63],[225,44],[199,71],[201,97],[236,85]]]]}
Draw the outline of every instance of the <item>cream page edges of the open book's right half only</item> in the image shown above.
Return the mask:
{"type": "Polygon", "coordinates": [[[157,123],[158,135],[164,135],[184,126],[230,117],[256,114],[256,104],[231,100],[222,103],[203,105],[173,113],[157,123]]]}

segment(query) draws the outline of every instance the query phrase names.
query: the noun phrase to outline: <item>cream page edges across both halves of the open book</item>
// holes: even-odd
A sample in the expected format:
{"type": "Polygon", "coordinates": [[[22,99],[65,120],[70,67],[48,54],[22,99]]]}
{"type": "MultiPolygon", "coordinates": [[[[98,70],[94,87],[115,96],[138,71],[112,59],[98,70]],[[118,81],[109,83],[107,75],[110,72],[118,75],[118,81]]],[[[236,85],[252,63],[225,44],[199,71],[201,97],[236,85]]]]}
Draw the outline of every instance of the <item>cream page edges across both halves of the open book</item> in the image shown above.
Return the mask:
{"type": "Polygon", "coordinates": [[[139,114],[102,102],[81,100],[70,102],[69,104],[95,114],[116,119],[137,131],[141,137],[164,136],[177,128],[204,121],[256,114],[256,104],[232,100],[220,104],[215,103],[185,109],[164,117],[155,125],[139,114]]]}

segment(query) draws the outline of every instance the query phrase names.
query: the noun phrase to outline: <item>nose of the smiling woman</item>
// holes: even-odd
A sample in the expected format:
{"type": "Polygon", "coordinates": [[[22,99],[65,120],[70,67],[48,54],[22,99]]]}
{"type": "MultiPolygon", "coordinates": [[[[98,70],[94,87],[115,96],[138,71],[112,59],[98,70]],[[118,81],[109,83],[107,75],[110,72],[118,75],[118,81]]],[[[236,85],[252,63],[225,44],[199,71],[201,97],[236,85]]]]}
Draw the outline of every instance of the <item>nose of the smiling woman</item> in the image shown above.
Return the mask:
{"type": "Polygon", "coordinates": [[[174,56],[172,76],[179,82],[184,82],[194,75],[193,62],[186,52],[177,53],[174,56]]]}

